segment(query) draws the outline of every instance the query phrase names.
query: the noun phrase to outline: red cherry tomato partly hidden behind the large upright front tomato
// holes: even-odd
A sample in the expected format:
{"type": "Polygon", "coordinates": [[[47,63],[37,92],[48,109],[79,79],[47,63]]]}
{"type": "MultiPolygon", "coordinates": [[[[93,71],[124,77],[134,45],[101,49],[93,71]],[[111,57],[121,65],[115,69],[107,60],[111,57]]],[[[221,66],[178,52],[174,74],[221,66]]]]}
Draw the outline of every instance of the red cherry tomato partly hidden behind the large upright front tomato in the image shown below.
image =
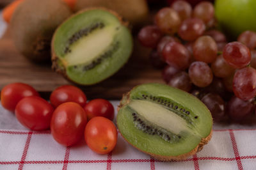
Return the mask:
{"type": "Polygon", "coordinates": [[[64,85],[56,88],[51,93],[50,101],[54,107],[63,104],[65,102],[75,102],[82,107],[86,104],[86,95],[83,91],[75,86],[64,85]]]}

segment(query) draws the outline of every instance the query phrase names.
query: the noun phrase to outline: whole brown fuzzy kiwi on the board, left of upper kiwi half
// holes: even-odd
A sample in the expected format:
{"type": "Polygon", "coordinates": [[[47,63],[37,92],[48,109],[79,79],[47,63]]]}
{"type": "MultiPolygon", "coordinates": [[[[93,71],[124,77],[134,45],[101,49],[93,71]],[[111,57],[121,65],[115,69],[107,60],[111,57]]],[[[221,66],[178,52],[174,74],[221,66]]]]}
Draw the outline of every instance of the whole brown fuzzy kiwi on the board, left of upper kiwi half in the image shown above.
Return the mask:
{"type": "Polygon", "coordinates": [[[72,12],[61,0],[22,2],[10,22],[15,47],[32,61],[51,61],[52,35],[70,15],[72,12]]]}

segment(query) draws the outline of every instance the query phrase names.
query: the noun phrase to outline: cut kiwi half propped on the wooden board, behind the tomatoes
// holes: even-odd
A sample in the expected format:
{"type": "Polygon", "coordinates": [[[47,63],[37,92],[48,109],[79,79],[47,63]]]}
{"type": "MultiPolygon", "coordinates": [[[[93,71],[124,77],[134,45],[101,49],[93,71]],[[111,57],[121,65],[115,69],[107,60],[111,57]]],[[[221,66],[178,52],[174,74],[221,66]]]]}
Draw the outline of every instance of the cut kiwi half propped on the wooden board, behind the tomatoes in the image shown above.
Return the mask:
{"type": "Polygon", "coordinates": [[[115,12],[91,8],[67,19],[52,39],[52,68],[90,85],[117,72],[132,52],[128,23],[115,12]]]}

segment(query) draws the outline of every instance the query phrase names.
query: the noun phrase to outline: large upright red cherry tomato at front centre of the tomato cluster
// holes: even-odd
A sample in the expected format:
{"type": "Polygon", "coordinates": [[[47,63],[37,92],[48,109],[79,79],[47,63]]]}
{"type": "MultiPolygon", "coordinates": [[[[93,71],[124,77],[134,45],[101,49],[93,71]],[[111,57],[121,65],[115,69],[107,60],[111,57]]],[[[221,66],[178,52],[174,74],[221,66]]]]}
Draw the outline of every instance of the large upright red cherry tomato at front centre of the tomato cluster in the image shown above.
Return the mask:
{"type": "Polygon", "coordinates": [[[53,112],[51,133],[58,143],[71,146],[83,138],[86,123],[83,107],[74,102],[67,102],[59,105],[53,112]]]}

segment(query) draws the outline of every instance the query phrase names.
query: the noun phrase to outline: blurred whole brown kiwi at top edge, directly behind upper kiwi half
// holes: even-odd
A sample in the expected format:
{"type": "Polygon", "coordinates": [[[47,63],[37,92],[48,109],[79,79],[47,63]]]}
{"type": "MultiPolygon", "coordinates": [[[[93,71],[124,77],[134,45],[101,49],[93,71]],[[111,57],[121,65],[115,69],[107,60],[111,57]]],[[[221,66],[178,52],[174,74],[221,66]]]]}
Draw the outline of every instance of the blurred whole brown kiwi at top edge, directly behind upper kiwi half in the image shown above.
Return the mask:
{"type": "Polygon", "coordinates": [[[90,7],[104,7],[113,10],[131,22],[132,25],[140,25],[148,16],[148,4],[146,0],[77,0],[75,10],[83,10],[90,7]]]}

